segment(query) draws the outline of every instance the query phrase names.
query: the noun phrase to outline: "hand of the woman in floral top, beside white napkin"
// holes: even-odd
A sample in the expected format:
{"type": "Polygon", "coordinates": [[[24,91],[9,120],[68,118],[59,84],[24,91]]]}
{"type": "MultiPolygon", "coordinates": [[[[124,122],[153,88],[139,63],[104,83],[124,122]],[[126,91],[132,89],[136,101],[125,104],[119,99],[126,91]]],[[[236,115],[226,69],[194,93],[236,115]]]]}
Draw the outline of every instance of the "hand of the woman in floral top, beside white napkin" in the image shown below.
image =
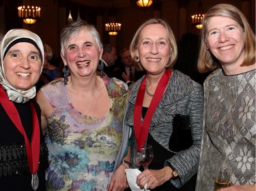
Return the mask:
{"type": "Polygon", "coordinates": [[[120,165],[113,174],[111,178],[111,183],[109,184],[108,191],[122,191],[128,188],[128,182],[126,179],[126,172],[124,171],[127,169],[124,165],[120,165]]]}

